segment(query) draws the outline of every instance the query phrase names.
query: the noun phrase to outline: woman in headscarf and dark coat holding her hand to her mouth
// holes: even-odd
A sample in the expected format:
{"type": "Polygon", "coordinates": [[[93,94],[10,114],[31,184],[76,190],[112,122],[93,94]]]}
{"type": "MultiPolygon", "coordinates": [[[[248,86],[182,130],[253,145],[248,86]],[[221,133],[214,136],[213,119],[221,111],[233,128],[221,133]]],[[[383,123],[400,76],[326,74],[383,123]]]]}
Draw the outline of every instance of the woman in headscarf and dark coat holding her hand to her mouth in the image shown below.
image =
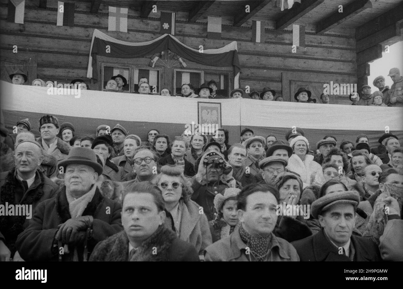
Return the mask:
{"type": "MultiPolygon", "coordinates": [[[[302,181],[293,173],[280,173],[274,180],[274,187],[280,193],[279,206],[280,214],[274,229],[274,234],[286,239],[289,242],[303,239],[312,235],[310,228],[306,224],[309,216],[305,216],[301,210],[292,210],[291,214],[286,210],[289,206],[300,205],[299,199],[302,194],[302,181]],[[283,213],[287,214],[283,216],[283,213]],[[295,215],[294,215],[295,213],[295,215]]],[[[307,213],[307,212],[305,212],[307,213]]]]}

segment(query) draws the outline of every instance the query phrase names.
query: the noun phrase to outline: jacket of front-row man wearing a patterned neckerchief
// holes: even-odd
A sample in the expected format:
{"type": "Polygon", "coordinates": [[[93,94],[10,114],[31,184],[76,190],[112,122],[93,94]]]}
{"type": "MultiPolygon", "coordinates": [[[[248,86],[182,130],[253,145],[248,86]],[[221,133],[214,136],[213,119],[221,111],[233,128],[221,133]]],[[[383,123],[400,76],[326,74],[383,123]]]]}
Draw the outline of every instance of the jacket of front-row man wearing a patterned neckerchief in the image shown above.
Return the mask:
{"type": "MultiPolygon", "coordinates": [[[[235,229],[231,235],[220,239],[208,246],[204,253],[204,261],[250,261],[250,254],[246,254],[244,241],[239,235],[239,228],[235,229]]],[[[299,261],[295,248],[286,240],[271,236],[270,253],[267,261],[299,261]]]]}

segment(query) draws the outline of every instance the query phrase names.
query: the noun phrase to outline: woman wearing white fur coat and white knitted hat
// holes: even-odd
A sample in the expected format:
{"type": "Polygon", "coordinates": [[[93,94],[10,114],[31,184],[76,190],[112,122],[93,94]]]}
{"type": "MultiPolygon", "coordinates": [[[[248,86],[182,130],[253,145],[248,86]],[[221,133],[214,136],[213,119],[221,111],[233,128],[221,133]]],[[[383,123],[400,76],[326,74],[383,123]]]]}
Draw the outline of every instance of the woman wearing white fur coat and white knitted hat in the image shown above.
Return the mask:
{"type": "Polygon", "coordinates": [[[301,176],[303,188],[314,183],[315,177],[322,176],[322,166],[314,161],[314,156],[307,154],[309,142],[306,137],[298,135],[291,140],[291,148],[294,154],[288,160],[287,169],[301,176]]]}

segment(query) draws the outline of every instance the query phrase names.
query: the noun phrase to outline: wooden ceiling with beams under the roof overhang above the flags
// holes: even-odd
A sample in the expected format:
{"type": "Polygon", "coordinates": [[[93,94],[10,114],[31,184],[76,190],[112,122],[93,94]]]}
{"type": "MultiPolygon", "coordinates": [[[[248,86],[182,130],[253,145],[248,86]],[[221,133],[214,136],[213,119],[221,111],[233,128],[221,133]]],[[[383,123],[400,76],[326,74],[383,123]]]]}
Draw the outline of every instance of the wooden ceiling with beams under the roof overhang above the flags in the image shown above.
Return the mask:
{"type": "MultiPolygon", "coordinates": [[[[42,7],[55,6],[57,1],[38,0],[42,7]]],[[[208,16],[222,17],[223,25],[251,26],[251,20],[264,21],[266,28],[276,30],[291,29],[292,24],[306,25],[307,31],[315,33],[351,34],[357,27],[368,23],[395,7],[401,8],[401,0],[301,0],[291,9],[281,11],[275,0],[239,0],[239,1],[69,1],[77,8],[90,10],[92,13],[108,11],[108,6],[127,7],[129,15],[141,18],[159,18],[160,11],[177,12],[178,21],[206,23],[208,16]],[[157,13],[152,12],[157,5],[157,13]],[[245,5],[250,12],[245,12],[245,5]],[[339,13],[343,5],[343,13],[339,13]],[[88,8],[86,8],[88,7],[88,8]],[[349,31],[343,33],[343,31],[349,31]]],[[[403,14],[403,11],[402,11],[403,14]]]]}

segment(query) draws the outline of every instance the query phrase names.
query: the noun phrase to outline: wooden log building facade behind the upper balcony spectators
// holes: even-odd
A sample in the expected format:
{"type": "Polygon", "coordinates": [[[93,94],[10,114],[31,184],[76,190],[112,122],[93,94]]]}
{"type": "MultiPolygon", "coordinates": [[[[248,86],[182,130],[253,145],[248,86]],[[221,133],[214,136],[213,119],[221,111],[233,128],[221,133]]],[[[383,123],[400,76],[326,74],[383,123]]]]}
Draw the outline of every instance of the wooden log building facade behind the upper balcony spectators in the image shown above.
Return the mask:
{"type": "MultiPolygon", "coordinates": [[[[262,91],[271,87],[285,101],[295,101],[299,87],[319,99],[323,84],[367,83],[368,62],[380,58],[385,45],[401,40],[403,2],[399,0],[302,0],[283,11],[280,1],[64,1],[74,3],[74,26],[56,26],[58,1],[25,0],[24,24],[7,22],[9,2],[0,2],[1,79],[23,65],[31,85],[36,78],[70,83],[85,79],[94,29],[125,42],[147,42],[160,37],[162,11],[176,13],[174,37],[194,49],[221,48],[237,42],[241,74],[239,87],[262,91]],[[156,12],[153,7],[156,5],[156,12]],[[339,12],[340,6],[343,12],[339,12]],[[127,32],[108,31],[109,6],[128,8],[127,32]],[[245,7],[249,6],[249,12],[245,7]],[[222,18],[221,40],[207,38],[208,16],[222,18]],[[265,28],[264,43],[252,41],[252,20],[265,28]],[[305,45],[292,51],[293,24],[305,26],[305,45]],[[17,53],[13,50],[17,47],[17,53]]],[[[157,90],[177,91],[186,75],[196,87],[214,79],[219,89],[234,88],[232,67],[212,67],[186,60],[182,67],[168,52],[150,67],[153,55],[140,58],[98,58],[98,79],[108,79],[114,68],[129,75],[129,91],[146,75],[157,90]],[[137,77],[137,78],[136,78],[137,77]],[[151,80],[150,80],[151,81],[151,80]],[[199,82],[197,82],[199,81],[199,82]]],[[[385,75],[386,77],[386,75],[385,75]]],[[[157,91],[157,92],[158,92],[157,91]]],[[[244,94],[248,98],[247,94],[244,94]]],[[[330,102],[350,104],[346,95],[330,95],[330,102]]]]}

